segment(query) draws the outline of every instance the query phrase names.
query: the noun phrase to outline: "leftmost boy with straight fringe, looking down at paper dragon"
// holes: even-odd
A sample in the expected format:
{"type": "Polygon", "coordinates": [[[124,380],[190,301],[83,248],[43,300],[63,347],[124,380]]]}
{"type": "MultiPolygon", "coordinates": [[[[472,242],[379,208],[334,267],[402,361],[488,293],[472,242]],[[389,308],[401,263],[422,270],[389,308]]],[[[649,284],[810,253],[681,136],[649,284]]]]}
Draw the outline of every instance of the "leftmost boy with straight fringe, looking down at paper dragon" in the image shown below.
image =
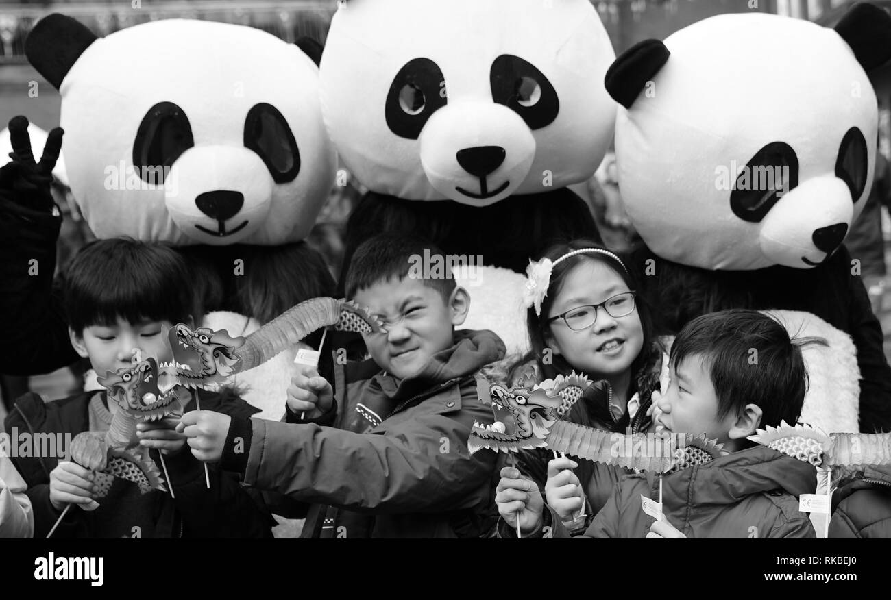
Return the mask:
{"type": "MultiPolygon", "coordinates": [[[[77,353],[88,358],[94,373],[86,377],[86,391],[45,403],[37,393],[16,401],[5,419],[7,432],[69,434],[107,431],[115,402],[95,377],[153,357],[168,358],[166,329],[191,320],[193,296],[183,257],[170,247],[132,239],[105,239],[83,247],[66,273],[64,297],[69,337],[77,353]]],[[[245,418],[257,409],[231,390],[198,391],[203,407],[245,418]]],[[[187,409],[195,406],[195,396],[187,409]]],[[[34,510],[34,535],[45,537],[66,505],[68,510],[53,537],[272,537],[271,515],[230,474],[204,470],[189,452],[182,451],[184,435],[176,432],[176,419],[137,425],[144,448],[163,451],[168,492],[141,493],[133,482],[115,478],[96,507],[94,474],[74,462],[55,456],[15,457],[13,462],[28,483],[34,510]]],[[[151,452],[159,462],[158,455],[151,452]]]]}

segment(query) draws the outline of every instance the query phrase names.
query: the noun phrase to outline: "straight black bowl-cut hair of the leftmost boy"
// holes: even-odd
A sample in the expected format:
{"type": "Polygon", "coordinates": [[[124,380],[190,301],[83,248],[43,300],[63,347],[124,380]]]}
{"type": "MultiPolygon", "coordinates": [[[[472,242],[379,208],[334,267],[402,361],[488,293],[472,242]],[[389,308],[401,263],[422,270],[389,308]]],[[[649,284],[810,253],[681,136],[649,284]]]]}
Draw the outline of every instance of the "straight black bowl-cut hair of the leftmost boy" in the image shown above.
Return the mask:
{"type": "Polygon", "coordinates": [[[175,249],[135,239],[100,239],[82,247],[64,274],[69,326],[79,334],[118,318],[187,321],[195,313],[188,265],[175,249]]]}

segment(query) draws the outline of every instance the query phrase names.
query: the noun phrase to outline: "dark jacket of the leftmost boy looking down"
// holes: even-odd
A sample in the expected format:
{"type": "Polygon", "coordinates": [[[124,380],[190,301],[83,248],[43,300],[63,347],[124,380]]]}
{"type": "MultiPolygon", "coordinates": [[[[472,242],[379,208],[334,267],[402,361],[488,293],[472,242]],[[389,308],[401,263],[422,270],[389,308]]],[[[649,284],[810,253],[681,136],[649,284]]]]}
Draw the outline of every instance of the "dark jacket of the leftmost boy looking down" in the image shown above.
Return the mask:
{"type": "MultiPolygon", "coordinates": [[[[19,434],[77,434],[89,431],[88,406],[95,394],[87,392],[65,400],[44,402],[36,393],[28,393],[16,401],[4,421],[6,432],[13,428],[19,434]]],[[[231,393],[200,392],[201,408],[217,410],[238,418],[257,412],[231,393]]],[[[195,409],[192,400],[186,410],[195,409]]],[[[60,452],[57,451],[57,455],[60,452]]],[[[151,457],[159,465],[158,454],[151,457]]],[[[13,463],[28,483],[28,496],[34,507],[34,536],[44,538],[59,518],[50,502],[50,472],[60,458],[13,457],[13,463]]],[[[136,485],[115,480],[110,496],[100,499],[100,507],[92,512],[72,507],[53,532],[53,538],[131,537],[142,538],[271,538],[272,515],[259,494],[241,487],[233,474],[217,467],[208,471],[210,487],[205,481],[202,464],[185,448],[174,456],[166,455],[170,480],[176,498],[168,492],[150,491],[140,494],[136,485]],[[138,533],[134,529],[138,524],[138,533]]]]}

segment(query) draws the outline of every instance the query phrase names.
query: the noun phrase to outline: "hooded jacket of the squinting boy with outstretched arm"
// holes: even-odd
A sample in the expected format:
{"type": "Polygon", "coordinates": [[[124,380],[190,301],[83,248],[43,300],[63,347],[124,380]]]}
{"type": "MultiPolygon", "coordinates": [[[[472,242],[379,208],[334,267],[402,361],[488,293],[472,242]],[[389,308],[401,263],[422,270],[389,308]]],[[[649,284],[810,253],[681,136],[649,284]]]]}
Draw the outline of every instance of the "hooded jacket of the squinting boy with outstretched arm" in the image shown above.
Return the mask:
{"type": "Polygon", "coordinates": [[[503,355],[494,333],[459,331],[398,384],[372,361],[336,365],[331,426],[233,420],[223,464],[309,505],[303,537],[476,537],[495,455],[467,450],[474,421],[492,421],[474,375],[503,355]],[[235,437],[250,440],[242,455],[235,437]]]}

